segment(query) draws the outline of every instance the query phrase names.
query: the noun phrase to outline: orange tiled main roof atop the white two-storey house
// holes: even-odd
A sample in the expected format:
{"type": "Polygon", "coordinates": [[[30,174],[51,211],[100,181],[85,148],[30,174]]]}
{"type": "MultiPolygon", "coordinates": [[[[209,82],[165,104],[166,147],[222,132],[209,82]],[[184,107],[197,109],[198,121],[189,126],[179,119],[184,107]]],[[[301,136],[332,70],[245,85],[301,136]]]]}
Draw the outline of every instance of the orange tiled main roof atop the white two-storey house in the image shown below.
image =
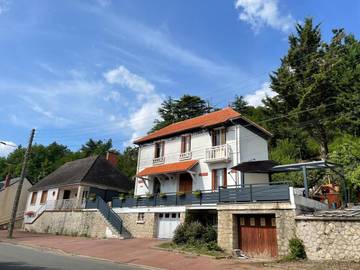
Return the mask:
{"type": "Polygon", "coordinates": [[[177,122],[171,125],[168,125],[162,129],[159,129],[149,135],[139,138],[134,141],[134,143],[144,143],[154,139],[162,138],[171,134],[179,133],[182,131],[187,131],[195,128],[206,128],[211,127],[217,124],[221,124],[229,121],[230,119],[240,117],[240,113],[236,112],[232,108],[224,108],[219,111],[207,113],[195,118],[177,122]]]}

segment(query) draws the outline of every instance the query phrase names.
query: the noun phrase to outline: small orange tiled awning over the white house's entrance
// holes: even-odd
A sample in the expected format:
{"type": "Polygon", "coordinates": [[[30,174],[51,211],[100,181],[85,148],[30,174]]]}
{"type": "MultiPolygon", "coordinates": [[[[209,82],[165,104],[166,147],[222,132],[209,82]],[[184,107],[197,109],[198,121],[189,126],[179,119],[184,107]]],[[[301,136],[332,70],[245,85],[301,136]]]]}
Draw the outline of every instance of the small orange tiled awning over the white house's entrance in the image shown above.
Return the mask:
{"type": "Polygon", "coordinates": [[[143,177],[156,174],[179,173],[192,169],[198,163],[197,160],[168,163],[159,166],[148,167],[140,171],[136,176],[143,177]]]}

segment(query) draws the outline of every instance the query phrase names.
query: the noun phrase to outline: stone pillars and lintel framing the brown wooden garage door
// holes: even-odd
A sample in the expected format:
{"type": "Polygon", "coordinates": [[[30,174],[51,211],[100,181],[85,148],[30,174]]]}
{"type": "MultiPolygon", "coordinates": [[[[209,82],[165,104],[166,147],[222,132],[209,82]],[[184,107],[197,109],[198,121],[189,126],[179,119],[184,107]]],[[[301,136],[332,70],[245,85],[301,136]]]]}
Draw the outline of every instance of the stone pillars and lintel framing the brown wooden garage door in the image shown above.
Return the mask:
{"type": "Polygon", "coordinates": [[[289,240],[295,236],[296,211],[289,203],[233,204],[218,207],[218,245],[231,253],[238,248],[238,215],[274,214],[279,256],[287,255],[289,240]]]}

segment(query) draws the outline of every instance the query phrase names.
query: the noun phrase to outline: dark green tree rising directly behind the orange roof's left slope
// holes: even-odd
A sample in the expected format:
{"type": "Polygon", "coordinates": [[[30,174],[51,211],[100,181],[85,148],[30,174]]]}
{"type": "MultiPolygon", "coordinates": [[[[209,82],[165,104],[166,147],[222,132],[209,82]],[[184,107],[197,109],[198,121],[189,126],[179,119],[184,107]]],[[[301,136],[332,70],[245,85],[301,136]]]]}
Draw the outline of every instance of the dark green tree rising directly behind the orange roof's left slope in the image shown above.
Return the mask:
{"type": "Polygon", "coordinates": [[[183,95],[179,99],[169,97],[165,100],[158,112],[161,119],[154,121],[154,127],[150,132],[154,132],[172,123],[190,119],[209,113],[213,108],[198,96],[183,95]]]}

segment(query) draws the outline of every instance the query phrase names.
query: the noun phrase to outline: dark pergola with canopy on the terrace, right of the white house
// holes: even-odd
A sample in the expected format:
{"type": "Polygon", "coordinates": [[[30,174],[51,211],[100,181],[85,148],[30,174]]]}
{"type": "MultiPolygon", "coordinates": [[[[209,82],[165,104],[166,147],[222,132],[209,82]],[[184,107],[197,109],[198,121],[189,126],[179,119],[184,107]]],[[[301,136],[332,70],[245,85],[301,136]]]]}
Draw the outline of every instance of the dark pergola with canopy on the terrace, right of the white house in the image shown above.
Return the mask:
{"type": "Polygon", "coordinates": [[[331,171],[335,172],[343,179],[342,185],[344,188],[345,201],[347,201],[343,167],[341,164],[337,164],[327,160],[309,161],[309,162],[301,162],[301,163],[293,163],[293,164],[285,164],[285,165],[277,165],[277,163],[273,160],[248,161],[248,162],[242,162],[234,166],[232,169],[241,171],[242,179],[244,179],[244,173],[267,173],[271,177],[271,175],[274,173],[302,171],[306,197],[309,197],[307,171],[314,169],[317,170],[330,169],[331,171]]]}

